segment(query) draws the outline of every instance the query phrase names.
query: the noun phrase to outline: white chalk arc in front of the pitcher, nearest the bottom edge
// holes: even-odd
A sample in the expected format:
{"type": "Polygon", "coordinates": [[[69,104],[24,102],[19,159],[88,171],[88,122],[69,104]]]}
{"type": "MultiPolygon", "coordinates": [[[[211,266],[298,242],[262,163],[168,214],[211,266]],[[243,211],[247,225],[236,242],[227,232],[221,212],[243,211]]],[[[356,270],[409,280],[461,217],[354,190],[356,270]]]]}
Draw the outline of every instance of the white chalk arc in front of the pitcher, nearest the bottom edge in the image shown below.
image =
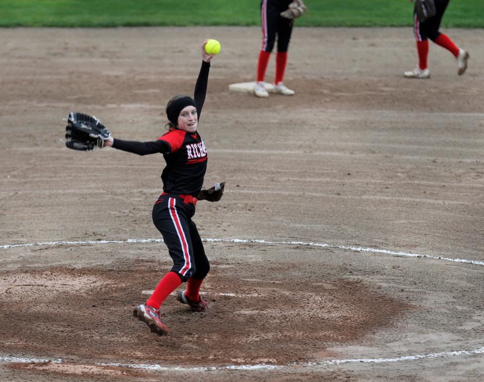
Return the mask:
{"type": "MultiPolygon", "coordinates": [[[[284,369],[288,367],[314,367],[314,366],[331,366],[331,365],[343,365],[348,363],[388,363],[388,362],[402,362],[402,361],[414,361],[418,359],[432,359],[441,357],[453,357],[472,354],[483,354],[484,347],[473,350],[460,350],[460,351],[446,351],[440,353],[429,354],[417,354],[406,355],[394,358],[353,358],[353,359],[330,359],[320,362],[294,362],[285,365],[271,365],[267,363],[259,363],[256,365],[225,365],[225,366],[195,366],[195,367],[183,367],[183,366],[162,366],[159,364],[138,364],[138,363],[94,363],[99,366],[107,367],[129,367],[133,369],[144,369],[152,371],[221,371],[221,370],[272,370],[272,369],[284,369]]],[[[62,358],[57,359],[38,359],[38,358],[20,358],[20,357],[0,357],[0,362],[8,363],[67,363],[62,358]]]]}

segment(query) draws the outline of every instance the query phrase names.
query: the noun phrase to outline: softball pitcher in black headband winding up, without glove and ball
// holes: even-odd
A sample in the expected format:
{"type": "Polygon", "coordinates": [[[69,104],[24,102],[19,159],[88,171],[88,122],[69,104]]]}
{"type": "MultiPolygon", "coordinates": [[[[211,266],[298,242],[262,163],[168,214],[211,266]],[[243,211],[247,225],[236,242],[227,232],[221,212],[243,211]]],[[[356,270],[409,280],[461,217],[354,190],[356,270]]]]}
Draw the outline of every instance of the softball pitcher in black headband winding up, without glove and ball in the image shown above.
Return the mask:
{"type": "Polygon", "coordinates": [[[153,206],[152,217],[163,235],[173,267],[158,283],[148,301],[138,305],[133,312],[160,336],[168,333],[168,328],[160,320],[160,305],[181,283],[187,282],[187,289],[178,293],[177,300],[195,311],[207,309],[207,302],[200,297],[199,291],[210,265],[197,226],[192,221],[208,159],[205,144],[197,132],[213,57],[205,52],[207,41],[202,45],[203,61],[194,98],[175,96],[168,102],[169,130],[165,135],[154,142],[122,141],[110,137],[104,143],[139,155],[161,153],[166,162],[161,174],[163,193],[153,206]]]}

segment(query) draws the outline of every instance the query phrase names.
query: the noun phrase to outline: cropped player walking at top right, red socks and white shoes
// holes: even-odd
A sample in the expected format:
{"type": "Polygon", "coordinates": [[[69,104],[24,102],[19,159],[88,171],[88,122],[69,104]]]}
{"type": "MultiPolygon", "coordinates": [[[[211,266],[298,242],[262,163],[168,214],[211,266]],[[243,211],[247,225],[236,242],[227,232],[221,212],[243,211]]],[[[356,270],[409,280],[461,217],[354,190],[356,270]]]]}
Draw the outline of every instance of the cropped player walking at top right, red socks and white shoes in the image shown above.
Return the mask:
{"type": "MultiPolygon", "coordinates": [[[[413,3],[413,0],[409,0],[413,3]]],[[[406,78],[425,79],[430,78],[430,71],[427,65],[427,58],[429,56],[429,38],[437,45],[449,50],[455,57],[457,63],[457,73],[464,74],[467,69],[467,60],[469,53],[464,49],[460,49],[454,42],[444,33],[439,32],[440,22],[442,16],[449,4],[449,0],[434,0],[435,16],[420,22],[417,17],[416,8],[413,10],[413,34],[417,42],[418,65],[415,69],[405,72],[406,78]]],[[[417,4],[415,5],[415,7],[417,4]]]]}

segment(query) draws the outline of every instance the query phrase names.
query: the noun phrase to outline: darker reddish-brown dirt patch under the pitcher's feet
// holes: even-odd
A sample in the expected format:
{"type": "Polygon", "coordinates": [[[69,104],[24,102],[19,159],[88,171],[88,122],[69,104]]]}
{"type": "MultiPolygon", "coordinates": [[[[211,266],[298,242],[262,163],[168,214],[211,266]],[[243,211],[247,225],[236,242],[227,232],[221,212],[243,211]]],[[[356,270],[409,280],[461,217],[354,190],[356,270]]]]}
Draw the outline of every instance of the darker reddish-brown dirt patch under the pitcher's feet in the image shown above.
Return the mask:
{"type": "MultiPolygon", "coordinates": [[[[286,364],[315,361],[328,345],[391,325],[409,308],[357,281],[284,280],[289,264],[269,269],[277,275],[274,280],[255,267],[217,265],[227,264],[214,262],[204,285],[208,311],[192,312],[170,296],[161,309],[170,333],[161,338],[131,316],[133,301],[146,298],[142,288],[157,284],[161,264],[4,272],[0,289],[7,289],[1,302],[5,311],[16,312],[16,320],[11,315],[0,319],[3,344],[14,352],[91,360],[286,364]],[[212,297],[216,291],[234,296],[212,297]],[[26,338],[26,328],[35,336],[26,338]]],[[[292,272],[298,271],[292,267],[292,272]]]]}

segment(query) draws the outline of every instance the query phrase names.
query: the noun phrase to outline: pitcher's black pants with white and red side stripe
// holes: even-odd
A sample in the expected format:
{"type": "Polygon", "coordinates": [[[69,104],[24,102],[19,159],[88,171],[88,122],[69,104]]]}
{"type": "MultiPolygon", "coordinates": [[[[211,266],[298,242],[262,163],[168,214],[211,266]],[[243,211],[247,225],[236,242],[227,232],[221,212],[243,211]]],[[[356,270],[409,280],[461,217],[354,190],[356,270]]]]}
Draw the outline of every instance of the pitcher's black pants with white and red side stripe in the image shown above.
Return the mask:
{"type": "Polygon", "coordinates": [[[152,212],[153,223],[163,235],[173,260],[171,271],[184,282],[191,277],[204,279],[210,270],[202,239],[192,221],[194,214],[195,206],[184,203],[175,194],[160,196],[152,212]]]}

